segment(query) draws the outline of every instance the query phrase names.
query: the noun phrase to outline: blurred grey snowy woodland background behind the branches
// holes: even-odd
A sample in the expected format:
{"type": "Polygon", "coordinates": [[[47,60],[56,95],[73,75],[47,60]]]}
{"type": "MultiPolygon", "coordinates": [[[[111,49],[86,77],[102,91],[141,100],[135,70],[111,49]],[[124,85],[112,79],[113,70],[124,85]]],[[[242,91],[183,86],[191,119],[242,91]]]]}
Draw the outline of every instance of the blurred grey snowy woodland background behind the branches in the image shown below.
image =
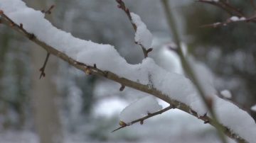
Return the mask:
{"type": "MultiPolygon", "coordinates": [[[[131,64],[142,62],[132,25],[114,0],[23,1],[37,10],[54,4],[53,13],[46,18],[57,28],[84,40],[114,45],[131,64]]],[[[154,35],[150,56],[170,71],[182,73],[176,56],[166,48],[172,38],[161,1],[124,2],[154,35]]],[[[230,2],[248,16],[254,13],[248,1],[230,2]]],[[[230,90],[231,101],[256,118],[250,112],[256,103],[255,23],[201,28],[230,16],[190,0],[172,0],[171,8],[188,52],[213,72],[218,91],[230,90]]],[[[46,77],[39,80],[45,58],[46,51],[0,25],[0,143],[218,142],[213,127],[178,110],[111,133],[119,127],[120,111],[146,93],[132,88],[120,92],[119,84],[87,76],[53,56],[46,77]]]]}

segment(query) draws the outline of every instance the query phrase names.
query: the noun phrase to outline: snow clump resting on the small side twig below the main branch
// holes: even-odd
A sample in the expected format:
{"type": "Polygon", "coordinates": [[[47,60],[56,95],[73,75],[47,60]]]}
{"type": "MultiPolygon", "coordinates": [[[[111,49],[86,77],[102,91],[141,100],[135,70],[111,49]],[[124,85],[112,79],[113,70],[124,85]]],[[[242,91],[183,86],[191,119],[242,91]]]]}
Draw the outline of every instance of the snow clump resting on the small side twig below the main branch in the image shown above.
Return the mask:
{"type": "Polygon", "coordinates": [[[146,96],[124,108],[120,113],[120,120],[125,123],[129,123],[133,120],[143,118],[149,113],[155,113],[161,109],[162,106],[159,105],[156,98],[153,96],[146,96]]]}

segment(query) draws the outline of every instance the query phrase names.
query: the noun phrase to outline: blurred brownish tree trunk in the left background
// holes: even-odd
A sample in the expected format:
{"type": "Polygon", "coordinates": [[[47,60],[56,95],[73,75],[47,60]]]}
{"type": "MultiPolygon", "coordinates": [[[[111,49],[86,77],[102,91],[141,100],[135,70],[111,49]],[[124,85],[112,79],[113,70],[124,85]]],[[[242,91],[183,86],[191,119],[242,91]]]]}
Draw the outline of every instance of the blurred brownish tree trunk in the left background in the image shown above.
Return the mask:
{"type": "MultiPolygon", "coordinates": [[[[26,0],[26,3],[38,10],[46,9],[46,1],[26,0]]],[[[31,45],[32,89],[36,131],[41,143],[63,142],[60,117],[58,114],[58,92],[55,85],[57,59],[50,57],[46,65],[46,77],[39,79],[39,69],[46,59],[46,51],[37,45],[31,45]]]]}

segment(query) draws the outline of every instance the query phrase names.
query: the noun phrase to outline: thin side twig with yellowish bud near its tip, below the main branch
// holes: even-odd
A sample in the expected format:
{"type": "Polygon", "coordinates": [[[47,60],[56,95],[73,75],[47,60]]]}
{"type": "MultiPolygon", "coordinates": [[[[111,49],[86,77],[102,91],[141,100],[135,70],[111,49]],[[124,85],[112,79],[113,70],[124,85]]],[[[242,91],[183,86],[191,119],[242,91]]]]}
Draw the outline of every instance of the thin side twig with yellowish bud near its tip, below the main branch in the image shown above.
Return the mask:
{"type": "Polygon", "coordinates": [[[134,123],[137,123],[137,122],[140,122],[140,124],[143,125],[144,120],[146,120],[148,118],[151,118],[151,117],[153,117],[155,115],[159,115],[161,113],[164,113],[167,110],[170,110],[170,109],[173,109],[173,108],[174,108],[173,105],[169,105],[168,107],[166,107],[166,108],[164,108],[162,110],[159,110],[159,111],[157,111],[155,113],[149,113],[148,115],[144,116],[143,118],[139,118],[137,120],[133,120],[132,122],[122,122],[122,121],[120,121],[119,122],[120,127],[118,127],[117,129],[113,130],[112,132],[115,132],[117,130],[120,130],[120,129],[122,129],[124,127],[127,127],[127,126],[130,126],[130,125],[133,125],[134,123]]]}

